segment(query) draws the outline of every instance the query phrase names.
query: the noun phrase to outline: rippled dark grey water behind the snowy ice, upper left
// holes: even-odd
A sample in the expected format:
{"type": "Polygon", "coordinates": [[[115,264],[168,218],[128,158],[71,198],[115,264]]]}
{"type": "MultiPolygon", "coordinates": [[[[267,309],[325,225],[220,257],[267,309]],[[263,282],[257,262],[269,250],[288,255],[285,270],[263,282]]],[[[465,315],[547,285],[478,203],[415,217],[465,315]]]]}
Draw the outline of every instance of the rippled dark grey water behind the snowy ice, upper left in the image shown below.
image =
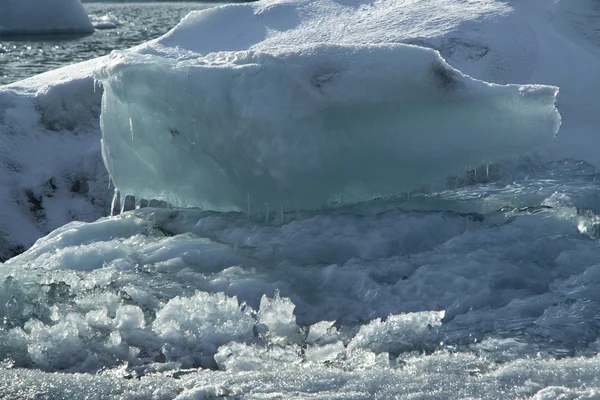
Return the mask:
{"type": "Polygon", "coordinates": [[[92,20],[108,15],[115,29],[85,36],[0,38],[0,85],[122,50],[163,35],[190,11],[214,3],[89,3],[92,20]],[[4,49],[4,50],[3,50],[4,49]]]}

